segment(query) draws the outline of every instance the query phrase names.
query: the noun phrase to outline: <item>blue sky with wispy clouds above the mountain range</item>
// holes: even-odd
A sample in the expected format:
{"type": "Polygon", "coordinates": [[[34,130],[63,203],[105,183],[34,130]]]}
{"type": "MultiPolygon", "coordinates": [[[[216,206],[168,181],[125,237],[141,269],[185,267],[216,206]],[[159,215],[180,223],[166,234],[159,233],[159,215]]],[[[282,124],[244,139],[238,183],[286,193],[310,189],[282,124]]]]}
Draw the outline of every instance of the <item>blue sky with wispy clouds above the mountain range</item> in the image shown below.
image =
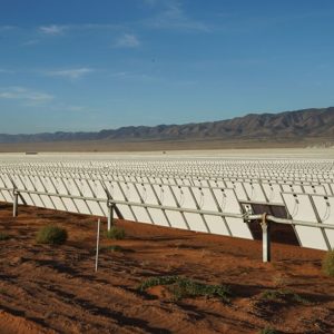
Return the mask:
{"type": "Polygon", "coordinates": [[[332,0],[0,0],[0,132],[334,106],[332,0]]]}

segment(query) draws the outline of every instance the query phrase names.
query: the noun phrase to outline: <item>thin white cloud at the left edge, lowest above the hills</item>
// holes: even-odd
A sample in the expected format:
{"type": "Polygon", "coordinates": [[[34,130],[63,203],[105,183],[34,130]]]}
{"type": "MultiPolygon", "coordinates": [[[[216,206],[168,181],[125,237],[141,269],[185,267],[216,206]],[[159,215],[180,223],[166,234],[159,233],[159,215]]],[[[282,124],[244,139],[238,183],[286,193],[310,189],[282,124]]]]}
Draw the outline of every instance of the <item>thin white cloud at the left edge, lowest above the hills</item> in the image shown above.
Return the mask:
{"type": "Polygon", "coordinates": [[[0,99],[22,100],[26,102],[45,104],[55,97],[26,87],[8,87],[0,89],[0,99]]]}

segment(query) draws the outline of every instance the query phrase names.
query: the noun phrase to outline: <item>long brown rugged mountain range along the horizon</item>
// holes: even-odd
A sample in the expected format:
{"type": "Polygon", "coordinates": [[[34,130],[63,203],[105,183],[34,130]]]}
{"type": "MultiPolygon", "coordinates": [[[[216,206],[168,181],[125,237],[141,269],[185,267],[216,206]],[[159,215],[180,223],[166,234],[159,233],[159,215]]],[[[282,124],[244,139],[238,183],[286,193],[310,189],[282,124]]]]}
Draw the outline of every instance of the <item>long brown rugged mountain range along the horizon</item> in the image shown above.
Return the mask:
{"type": "Polygon", "coordinates": [[[301,140],[303,138],[334,138],[334,107],[303,109],[279,114],[249,114],[227,120],[129,126],[99,132],[53,132],[36,135],[3,135],[0,143],[53,141],[164,141],[164,140],[301,140]]]}

